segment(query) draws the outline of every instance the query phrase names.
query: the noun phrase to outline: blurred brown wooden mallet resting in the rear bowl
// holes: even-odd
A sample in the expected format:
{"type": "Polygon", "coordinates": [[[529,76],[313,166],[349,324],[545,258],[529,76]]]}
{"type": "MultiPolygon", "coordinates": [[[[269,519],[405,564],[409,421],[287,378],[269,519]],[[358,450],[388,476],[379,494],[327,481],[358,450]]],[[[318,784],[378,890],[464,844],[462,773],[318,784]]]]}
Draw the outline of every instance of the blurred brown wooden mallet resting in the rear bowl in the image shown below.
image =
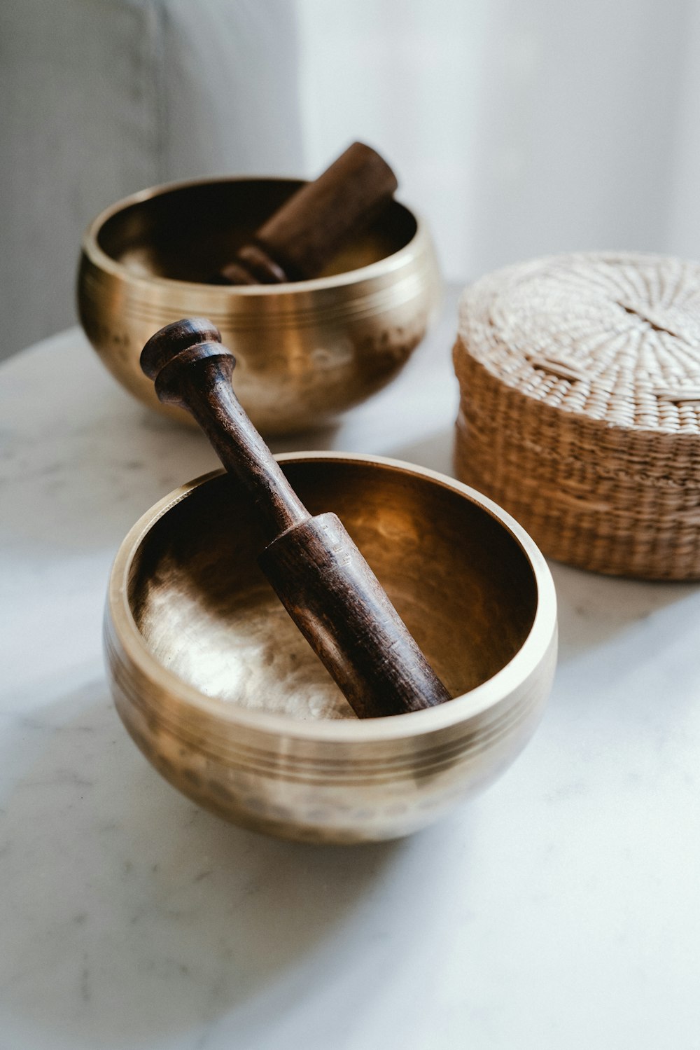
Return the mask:
{"type": "Polygon", "coordinates": [[[315,277],[349,234],[372,222],[398,185],[379,153],[353,143],[256,230],[214,279],[225,285],[275,285],[315,277]]]}

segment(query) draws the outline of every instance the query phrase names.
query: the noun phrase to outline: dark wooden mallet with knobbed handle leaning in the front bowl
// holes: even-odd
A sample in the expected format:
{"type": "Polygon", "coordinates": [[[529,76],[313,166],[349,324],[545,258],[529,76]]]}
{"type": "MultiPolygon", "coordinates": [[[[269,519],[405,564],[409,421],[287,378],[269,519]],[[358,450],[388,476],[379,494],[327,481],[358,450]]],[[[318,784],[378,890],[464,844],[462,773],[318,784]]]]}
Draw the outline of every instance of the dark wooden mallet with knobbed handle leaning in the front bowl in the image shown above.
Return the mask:
{"type": "Polygon", "coordinates": [[[334,513],[313,517],[231,386],[235,358],[211,321],[161,329],[141,366],[161,401],[187,408],[251,497],[268,542],[259,565],[360,718],[448,700],[379,581],[334,513]]]}

